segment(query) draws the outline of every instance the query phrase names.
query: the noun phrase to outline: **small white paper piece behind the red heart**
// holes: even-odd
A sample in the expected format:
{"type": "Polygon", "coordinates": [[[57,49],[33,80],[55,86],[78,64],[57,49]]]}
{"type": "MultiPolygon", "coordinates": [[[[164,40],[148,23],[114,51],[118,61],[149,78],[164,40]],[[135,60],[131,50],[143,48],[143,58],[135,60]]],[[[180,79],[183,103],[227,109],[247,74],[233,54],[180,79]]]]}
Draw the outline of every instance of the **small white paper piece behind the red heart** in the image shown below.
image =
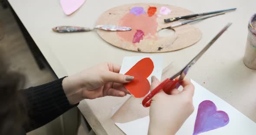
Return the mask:
{"type": "Polygon", "coordinates": [[[138,61],[143,58],[151,58],[154,63],[154,69],[151,75],[147,78],[149,83],[151,84],[151,76],[157,77],[161,80],[162,70],[163,70],[163,61],[164,57],[161,55],[153,55],[153,56],[132,56],[132,57],[125,57],[123,59],[123,63],[121,66],[120,74],[125,74],[127,71],[131,69],[138,61]]]}

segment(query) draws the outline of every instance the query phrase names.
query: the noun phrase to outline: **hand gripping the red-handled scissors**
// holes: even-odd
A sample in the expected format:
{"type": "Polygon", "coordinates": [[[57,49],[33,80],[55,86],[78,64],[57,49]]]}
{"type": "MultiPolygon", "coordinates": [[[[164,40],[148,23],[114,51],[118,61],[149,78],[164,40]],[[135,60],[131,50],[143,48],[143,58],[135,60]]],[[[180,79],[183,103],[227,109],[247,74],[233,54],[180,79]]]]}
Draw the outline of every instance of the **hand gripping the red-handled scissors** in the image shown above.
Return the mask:
{"type": "MultiPolygon", "coordinates": [[[[160,82],[154,76],[151,80],[151,90],[153,90],[160,82]]],[[[161,90],[152,98],[149,113],[149,135],[174,135],[193,113],[194,85],[190,80],[184,79],[182,86],[181,92],[174,89],[171,91],[171,95],[167,95],[161,90]]]]}

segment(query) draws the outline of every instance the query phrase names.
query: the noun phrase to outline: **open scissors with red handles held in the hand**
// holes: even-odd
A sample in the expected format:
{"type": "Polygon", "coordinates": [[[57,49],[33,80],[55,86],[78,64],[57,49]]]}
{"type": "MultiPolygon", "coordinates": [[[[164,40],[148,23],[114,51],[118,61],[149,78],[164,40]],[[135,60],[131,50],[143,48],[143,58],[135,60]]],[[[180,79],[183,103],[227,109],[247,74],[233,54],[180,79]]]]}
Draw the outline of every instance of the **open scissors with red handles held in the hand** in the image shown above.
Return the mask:
{"type": "Polygon", "coordinates": [[[154,90],[149,93],[144,100],[142,101],[142,105],[144,107],[149,107],[151,104],[151,98],[157,94],[160,90],[164,90],[165,93],[169,93],[174,88],[178,89],[181,84],[182,80],[186,76],[189,69],[197,62],[197,60],[203,55],[205,51],[207,51],[208,48],[210,48],[211,45],[220,37],[220,35],[223,34],[223,32],[226,31],[226,29],[231,25],[232,23],[228,23],[204,48],[202,51],[200,51],[197,56],[195,56],[181,71],[174,74],[171,78],[167,78],[164,80],[161,84],[159,84],[154,90]],[[180,76],[180,77],[178,77],[180,76]],[[178,78],[177,78],[178,77],[178,78]]]}

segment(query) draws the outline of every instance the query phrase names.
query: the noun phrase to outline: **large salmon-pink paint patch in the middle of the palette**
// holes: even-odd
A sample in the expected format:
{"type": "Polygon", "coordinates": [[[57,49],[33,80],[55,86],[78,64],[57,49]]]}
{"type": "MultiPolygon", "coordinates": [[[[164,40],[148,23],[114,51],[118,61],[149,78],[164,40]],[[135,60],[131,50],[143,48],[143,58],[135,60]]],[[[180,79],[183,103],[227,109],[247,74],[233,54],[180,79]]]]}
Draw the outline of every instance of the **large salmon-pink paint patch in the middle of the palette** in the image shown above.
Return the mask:
{"type": "MultiPolygon", "coordinates": [[[[118,26],[131,27],[131,31],[117,32],[118,37],[122,41],[133,42],[134,35],[137,30],[144,32],[143,39],[157,39],[157,16],[149,17],[147,14],[136,16],[135,14],[127,13],[118,22],[118,26]]],[[[134,42],[133,42],[134,43],[134,42]]]]}

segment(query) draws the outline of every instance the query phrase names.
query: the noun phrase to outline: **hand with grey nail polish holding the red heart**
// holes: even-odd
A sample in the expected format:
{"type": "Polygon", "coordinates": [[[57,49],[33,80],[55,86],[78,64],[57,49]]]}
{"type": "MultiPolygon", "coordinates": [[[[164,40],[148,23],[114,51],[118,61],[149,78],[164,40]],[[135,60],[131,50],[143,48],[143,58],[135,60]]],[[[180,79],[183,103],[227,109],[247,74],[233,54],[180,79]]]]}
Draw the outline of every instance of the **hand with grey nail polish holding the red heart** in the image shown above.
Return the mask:
{"type": "Polygon", "coordinates": [[[123,84],[134,77],[118,74],[120,68],[119,65],[103,63],[64,78],[62,87],[69,103],[103,96],[125,96],[129,92],[123,84]]]}

